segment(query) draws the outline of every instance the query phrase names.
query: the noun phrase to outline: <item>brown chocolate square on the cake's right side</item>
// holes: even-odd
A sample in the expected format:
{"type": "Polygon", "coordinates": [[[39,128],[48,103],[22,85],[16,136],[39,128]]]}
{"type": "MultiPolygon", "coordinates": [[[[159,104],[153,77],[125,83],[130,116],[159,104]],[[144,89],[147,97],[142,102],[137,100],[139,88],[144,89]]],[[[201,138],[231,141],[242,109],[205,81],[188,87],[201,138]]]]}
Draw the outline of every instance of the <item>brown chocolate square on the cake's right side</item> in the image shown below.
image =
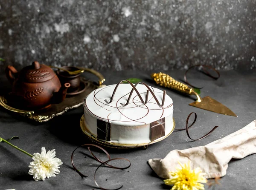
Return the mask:
{"type": "Polygon", "coordinates": [[[162,136],[165,136],[165,117],[158,119],[151,124],[151,141],[154,141],[162,136]]]}

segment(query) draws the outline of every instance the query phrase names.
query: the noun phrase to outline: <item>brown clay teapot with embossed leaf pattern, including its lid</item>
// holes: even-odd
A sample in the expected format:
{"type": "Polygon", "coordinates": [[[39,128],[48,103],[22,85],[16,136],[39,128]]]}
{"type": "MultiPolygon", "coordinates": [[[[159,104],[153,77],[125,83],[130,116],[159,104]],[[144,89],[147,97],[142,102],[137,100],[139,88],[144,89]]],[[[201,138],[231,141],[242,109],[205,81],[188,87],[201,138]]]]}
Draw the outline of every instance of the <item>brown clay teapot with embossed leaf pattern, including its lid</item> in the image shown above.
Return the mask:
{"type": "Polygon", "coordinates": [[[65,99],[67,88],[70,87],[69,83],[61,87],[55,72],[37,61],[20,72],[13,66],[7,66],[6,77],[12,83],[12,99],[23,108],[43,109],[52,103],[60,103],[65,99]]]}

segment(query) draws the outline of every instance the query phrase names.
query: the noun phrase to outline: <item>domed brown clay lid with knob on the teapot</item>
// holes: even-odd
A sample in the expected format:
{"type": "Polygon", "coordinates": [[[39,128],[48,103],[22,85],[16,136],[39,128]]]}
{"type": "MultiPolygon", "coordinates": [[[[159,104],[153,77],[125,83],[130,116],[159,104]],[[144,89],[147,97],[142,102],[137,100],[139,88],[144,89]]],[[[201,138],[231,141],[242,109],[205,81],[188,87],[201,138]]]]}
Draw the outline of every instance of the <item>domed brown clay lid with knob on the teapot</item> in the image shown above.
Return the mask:
{"type": "Polygon", "coordinates": [[[26,66],[20,71],[20,77],[24,82],[38,83],[52,79],[55,76],[54,71],[44,64],[34,61],[32,65],[26,66]]]}

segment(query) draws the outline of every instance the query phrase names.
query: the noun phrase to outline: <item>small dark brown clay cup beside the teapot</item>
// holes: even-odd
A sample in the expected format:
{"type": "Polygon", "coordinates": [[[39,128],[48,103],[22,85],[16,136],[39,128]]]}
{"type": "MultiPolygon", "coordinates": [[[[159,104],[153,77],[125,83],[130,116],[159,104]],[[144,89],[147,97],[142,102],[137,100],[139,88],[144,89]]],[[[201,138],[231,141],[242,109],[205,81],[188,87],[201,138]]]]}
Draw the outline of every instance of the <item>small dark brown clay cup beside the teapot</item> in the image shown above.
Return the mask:
{"type": "MultiPolygon", "coordinates": [[[[72,66],[64,66],[61,67],[68,71],[77,71],[78,68],[72,66]]],[[[70,83],[70,88],[68,88],[68,92],[74,92],[79,88],[80,85],[80,73],[76,75],[70,75],[67,71],[58,70],[57,71],[58,78],[61,81],[61,84],[70,83]]]]}

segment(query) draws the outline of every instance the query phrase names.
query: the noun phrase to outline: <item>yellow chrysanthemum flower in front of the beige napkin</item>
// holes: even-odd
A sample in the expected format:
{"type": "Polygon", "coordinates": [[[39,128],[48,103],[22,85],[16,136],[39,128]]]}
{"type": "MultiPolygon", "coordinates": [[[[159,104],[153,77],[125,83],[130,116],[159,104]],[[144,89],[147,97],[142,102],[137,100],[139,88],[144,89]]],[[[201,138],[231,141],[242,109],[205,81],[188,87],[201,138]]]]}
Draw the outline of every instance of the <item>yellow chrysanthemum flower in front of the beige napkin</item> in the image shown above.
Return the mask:
{"type": "Polygon", "coordinates": [[[182,165],[179,162],[181,169],[176,168],[176,172],[170,172],[172,179],[163,180],[166,185],[173,185],[172,190],[204,190],[204,184],[207,179],[204,178],[204,173],[200,168],[191,170],[190,161],[188,164],[182,165]]]}

